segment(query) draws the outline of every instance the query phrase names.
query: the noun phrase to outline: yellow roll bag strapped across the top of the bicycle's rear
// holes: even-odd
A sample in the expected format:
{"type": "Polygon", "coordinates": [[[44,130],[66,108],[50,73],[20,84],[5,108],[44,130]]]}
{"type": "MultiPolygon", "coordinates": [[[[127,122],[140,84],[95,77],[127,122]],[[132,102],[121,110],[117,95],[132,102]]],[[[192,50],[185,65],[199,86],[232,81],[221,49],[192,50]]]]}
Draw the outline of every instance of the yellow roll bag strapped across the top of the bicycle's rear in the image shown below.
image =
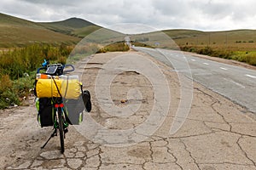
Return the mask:
{"type": "Polygon", "coordinates": [[[36,94],[38,98],[63,97],[65,99],[78,99],[81,94],[81,85],[78,76],[38,78],[36,94]]]}

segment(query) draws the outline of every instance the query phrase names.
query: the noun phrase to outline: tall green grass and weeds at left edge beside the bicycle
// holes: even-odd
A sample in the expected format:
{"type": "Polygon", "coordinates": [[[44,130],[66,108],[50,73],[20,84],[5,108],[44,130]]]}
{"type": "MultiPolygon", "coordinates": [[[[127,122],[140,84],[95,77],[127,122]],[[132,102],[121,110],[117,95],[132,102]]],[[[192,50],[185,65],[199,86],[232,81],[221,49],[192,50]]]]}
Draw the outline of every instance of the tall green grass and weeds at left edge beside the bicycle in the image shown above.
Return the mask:
{"type": "Polygon", "coordinates": [[[65,63],[73,47],[33,44],[10,48],[0,54],[0,109],[20,105],[31,94],[35,74],[44,59],[65,63]]]}

